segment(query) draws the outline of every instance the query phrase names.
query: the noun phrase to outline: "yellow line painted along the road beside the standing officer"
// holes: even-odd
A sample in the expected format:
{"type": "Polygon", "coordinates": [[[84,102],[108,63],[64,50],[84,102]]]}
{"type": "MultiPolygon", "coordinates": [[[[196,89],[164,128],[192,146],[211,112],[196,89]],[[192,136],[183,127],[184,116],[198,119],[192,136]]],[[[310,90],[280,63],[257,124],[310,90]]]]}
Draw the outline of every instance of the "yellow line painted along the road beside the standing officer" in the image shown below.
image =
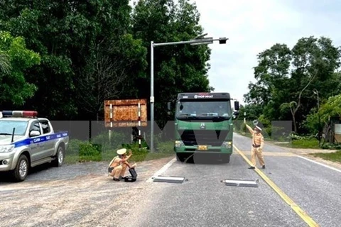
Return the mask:
{"type": "MultiPolygon", "coordinates": [[[[234,149],[237,150],[237,152],[239,153],[239,155],[241,155],[244,160],[251,165],[251,161],[247,158],[247,156],[244,155],[244,153],[242,153],[242,151],[240,151],[235,145],[233,145],[234,149]]],[[[316,223],[313,218],[310,218],[310,216],[308,216],[308,214],[305,213],[305,211],[303,211],[297,204],[295,204],[295,202],[289,198],[289,196],[287,196],[274,182],[271,181],[271,179],[269,179],[269,177],[266,177],[266,175],[264,174],[264,172],[261,172],[261,170],[259,170],[257,167],[256,169],[254,169],[259,176],[261,176],[261,178],[264,179],[264,181],[269,184],[269,186],[274,189],[274,191],[281,196],[281,198],[289,205],[291,206],[291,209],[293,209],[293,211],[296,212],[296,214],[298,214],[298,216],[300,216],[303,221],[305,221],[305,223],[308,224],[308,226],[313,226],[313,227],[318,227],[318,223],[316,223]]]]}

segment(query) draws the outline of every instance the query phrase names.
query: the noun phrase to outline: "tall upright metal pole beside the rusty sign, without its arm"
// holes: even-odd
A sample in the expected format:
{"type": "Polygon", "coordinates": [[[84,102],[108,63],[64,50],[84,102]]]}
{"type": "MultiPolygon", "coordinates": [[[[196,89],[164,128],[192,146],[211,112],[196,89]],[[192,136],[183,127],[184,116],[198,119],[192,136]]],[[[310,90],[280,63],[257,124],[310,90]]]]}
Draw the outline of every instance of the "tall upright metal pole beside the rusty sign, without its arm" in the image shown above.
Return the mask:
{"type": "Polygon", "coordinates": [[[154,151],[154,42],[151,41],[151,152],[154,151]]]}

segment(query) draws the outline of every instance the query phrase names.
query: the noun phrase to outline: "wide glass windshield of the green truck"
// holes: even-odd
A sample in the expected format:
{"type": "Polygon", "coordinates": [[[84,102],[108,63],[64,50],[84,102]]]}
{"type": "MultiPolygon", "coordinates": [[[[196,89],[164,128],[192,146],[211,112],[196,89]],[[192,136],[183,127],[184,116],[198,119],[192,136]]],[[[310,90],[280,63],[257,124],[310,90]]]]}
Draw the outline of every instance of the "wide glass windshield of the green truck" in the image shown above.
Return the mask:
{"type": "Polygon", "coordinates": [[[176,114],[179,116],[221,116],[230,118],[232,116],[229,100],[180,100],[176,107],[176,114]]]}

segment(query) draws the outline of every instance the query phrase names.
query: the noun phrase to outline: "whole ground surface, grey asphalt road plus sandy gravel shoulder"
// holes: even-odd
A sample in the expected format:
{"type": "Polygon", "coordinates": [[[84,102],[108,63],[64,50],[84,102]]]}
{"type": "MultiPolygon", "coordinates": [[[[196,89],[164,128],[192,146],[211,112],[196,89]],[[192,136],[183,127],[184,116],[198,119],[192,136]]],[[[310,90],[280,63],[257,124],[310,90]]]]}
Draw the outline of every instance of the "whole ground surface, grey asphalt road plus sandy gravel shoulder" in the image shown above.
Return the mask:
{"type": "MultiPolygon", "coordinates": [[[[249,138],[235,134],[234,145],[250,158],[249,138]]],[[[260,171],[310,218],[340,226],[341,171],[274,145],[264,156],[260,171]]],[[[134,183],[112,181],[106,162],[38,167],[18,184],[0,177],[1,226],[308,226],[237,150],[229,164],[170,160],[141,162],[134,183]],[[188,181],[152,182],[156,173],[188,181]],[[229,178],[259,179],[259,187],[221,182],[229,178]]]]}

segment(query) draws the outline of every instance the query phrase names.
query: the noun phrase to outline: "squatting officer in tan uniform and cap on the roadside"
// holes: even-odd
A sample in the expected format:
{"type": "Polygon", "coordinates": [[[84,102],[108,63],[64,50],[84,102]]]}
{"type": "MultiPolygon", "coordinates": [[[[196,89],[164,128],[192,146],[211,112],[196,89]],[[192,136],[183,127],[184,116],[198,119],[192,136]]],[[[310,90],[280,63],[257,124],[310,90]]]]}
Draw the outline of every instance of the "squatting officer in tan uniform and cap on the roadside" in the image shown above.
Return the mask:
{"type": "Polygon", "coordinates": [[[114,157],[109,164],[109,176],[114,177],[114,181],[119,182],[120,179],[124,179],[126,167],[129,167],[129,169],[133,169],[136,167],[136,163],[134,165],[130,165],[128,162],[129,158],[132,155],[131,150],[129,150],[129,155],[126,155],[126,151],[126,148],[117,150],[117,156],[114,157]]]}

